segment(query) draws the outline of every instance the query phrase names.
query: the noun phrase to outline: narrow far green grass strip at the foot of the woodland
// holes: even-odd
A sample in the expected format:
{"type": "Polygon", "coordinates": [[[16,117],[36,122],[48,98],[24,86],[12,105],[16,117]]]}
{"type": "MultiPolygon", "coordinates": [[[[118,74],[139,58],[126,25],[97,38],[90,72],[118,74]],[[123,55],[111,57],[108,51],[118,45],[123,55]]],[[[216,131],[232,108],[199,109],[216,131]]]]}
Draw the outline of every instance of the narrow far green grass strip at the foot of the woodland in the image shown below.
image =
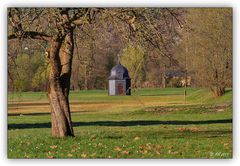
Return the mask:
{"type": "MultiPolygon", "coordinates": [[[[144,97],[169,97],[169,96],[179,96],[183,99],[183,88],[164,88],[164,89],[138,89],[132,92],[132,96],[108,96],[106,90],[81,90],[81,91],[71,91],[70,100],[71,101],[105,101],[107,100],[122,100],[122,99],[134,99],[135,96],[139,98],[144,97]]],[[[187,88],[187,100],[188,101],[198,101],[206,102],[207,100],[216,101],[231,101],[232,90],[227,89],[226,94],[222,98],[214,98],[208,89],[201,88],[187,88]]],[[[8,93],[9,101],[46,101],[46,92],[22,92],[22,93],[8,93]]]]}

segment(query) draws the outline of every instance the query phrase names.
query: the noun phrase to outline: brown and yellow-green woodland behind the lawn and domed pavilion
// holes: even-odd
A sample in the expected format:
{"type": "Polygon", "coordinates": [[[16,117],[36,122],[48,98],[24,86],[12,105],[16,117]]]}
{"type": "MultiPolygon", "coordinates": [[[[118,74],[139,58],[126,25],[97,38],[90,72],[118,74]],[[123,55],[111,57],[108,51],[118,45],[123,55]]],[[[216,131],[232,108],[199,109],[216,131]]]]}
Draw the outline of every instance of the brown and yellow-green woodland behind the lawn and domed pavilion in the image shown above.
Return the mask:
{"type": "MultiPolygon", "coordinates": [[[[132,88],[186,85],[221,96],[232,87],[230,8],[102,10],[109,11],[74,31],[71,90],[107,89],[118,56],[132,88]]],[[[47,15],[37,9],[34,15],[36,31],[51,31],[47,15]]],[[[46,91],[48,43],[30,38],[8,42],[8,90],[46,91]]]]}

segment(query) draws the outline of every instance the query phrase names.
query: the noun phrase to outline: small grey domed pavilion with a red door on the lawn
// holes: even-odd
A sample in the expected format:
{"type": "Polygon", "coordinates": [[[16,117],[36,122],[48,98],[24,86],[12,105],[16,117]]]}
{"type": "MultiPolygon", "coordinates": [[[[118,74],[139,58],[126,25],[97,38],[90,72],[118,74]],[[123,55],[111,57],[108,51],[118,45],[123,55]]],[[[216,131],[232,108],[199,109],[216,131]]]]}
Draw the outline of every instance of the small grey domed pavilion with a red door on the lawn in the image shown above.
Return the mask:
{"type": "Polygon", "coordinates": [[[108,95],[131,95],[131,78],[126,67],[120,64],[114,66],[108,77],[108,95]]]}

